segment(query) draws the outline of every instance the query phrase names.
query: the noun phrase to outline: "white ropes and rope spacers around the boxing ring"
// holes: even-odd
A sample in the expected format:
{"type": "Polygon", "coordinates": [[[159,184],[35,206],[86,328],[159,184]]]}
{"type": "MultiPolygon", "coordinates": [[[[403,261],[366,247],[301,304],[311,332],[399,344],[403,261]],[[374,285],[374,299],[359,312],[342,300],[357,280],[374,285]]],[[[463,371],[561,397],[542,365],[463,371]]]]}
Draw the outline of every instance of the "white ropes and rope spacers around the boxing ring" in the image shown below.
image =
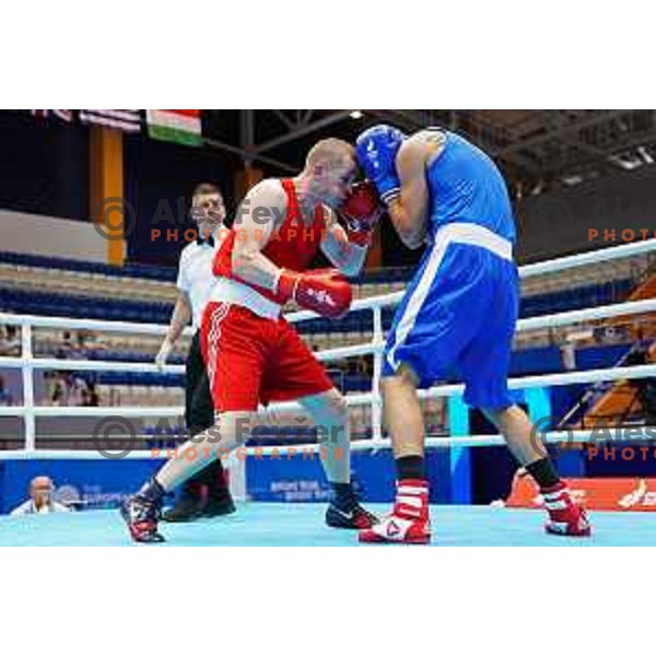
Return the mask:
{"type": "MultiPolygon", "coordinates": [[[[579,255],[572,255],[563,258],[547,260],[538,263],[527,265],[519,268],[522,279],[536,276],[546,276],[565,269],[575,267],[600,263],[619,258],[629,258],[639,255],[653,253],[656,250],[656,239],[624,244],[609,248],[602,248],[579,255]]],[[[382,398],[378,390],[380,374],[383,370],[383,308],[399,303],[403,292],[396,292],[382,296],[358,300],[352,305],[352,311],[371,311],[373,313],[373,337],[370,341],[360,344],[353,344],[343,348],[328,349],[316,353],[323,362],[331,362],[345,358],[359,355],[374,356],[374,374],[372,378],[372,389],[368,393],[352,394],[345,397],[349,407],[371,406],[372,410],[372,438],[353,442],[354,449],[378,448],[389,446],[389,441],[383,436],[382,425],[382,398]]],[[[632,316],[656,312],[656,298],[643,301],[633,301],[628,303],[616,303],[599,307],[576,309],[563,312],[553,315],[540,317],[530,317],[520,319],[517,325],[518,331],[535,330],[540,328],[555,328],[567,325],[579,324],[590,320],[600,320],[616,316],[632,316]]],[[[290,321],[303,321],[317,318],[317,315],[303,311],[286,315],[290,321]]],[[[23,382],[23,405],[0,407],[0,417],[19,417],[24,421],[24,448],[20,450],[0,452],[0,458],[9,457],[35,457],[37,455],[56,455],[57,452],[36,449],[36,418],[39,417],[97,417],[103,418],[109,414],[120,414],[125,418],[177,418],[184,414],[181,407],[67,407],[67,406],[36,406],[34,399],[34,372],[36,370],[57,370],[57,371],[120,371],[120,372],[152,372],[160,370],[155,364],[144,364],[120,361],[102,360],[62,360],[56,358],[35,358],[33,348],[33,336],[35,328],[60,328],[65,330],[91,330],[105,332],[130,332],[137,335],[164,335],[166,326],[154,324],[133,324],[128,321],[103,321],[95,319],[69,319],[63,317],[46,317],[33,315],[13,315],[0,313],[0,324],[16,325],[21,327],[21,356],[1,356],[0,368],[20,368],[22,371],[23,382]]],[[[187,333],[190,330],[187,329],[187,333]]],[[[164,371],[172,374],[184,373],[183,365],[167,365],[164,371]]],[[[546,387],[559,385],[573,385],[596,383],[599,380],[620,380],[632,378],[644,378],[656,376],[656,365],[636,365],[622,366],[610,370],[587,370],[577,372],[567,372],[560,374],[549,374],[539,376],[522,376],[511,378],[508,384],[511,389],[529,389],[531,387],[546,387]]],[[[462,385],[440,385],[420,393],[421,398],[445,398],[456,396],[462,393],[462,385]]],[[[276,403],[272,406],[276,410],[295,409],[298,406],[294,402],[276,403]]],[[[570,440],[585,442],[589,438],[590,431],[570,431],[570,440]]],[[[647,435],[648,437],[648,435],[647,435]]],[[[544,435],[548,442],[560,442],[562,433],[548,433],[544,435]]],[[[429,440],[431,445],[441,446],[478,446],[502,444],[501,436],[490,435],[469,435],[465,437],[440,437],[429,440]]],[[[258,447],[258,450],[262,447],[258,447]]],[[[277,447],[270,447],[277,448],[277,447]]],[[[316,444],[294,445],[294,448],[316,449],[316,444]]],[[[265,448],[266,453],[267,448],[265,448]]],[[[67,452],[68,456],[73,457],[97,457],[95,452],[67,452]]],[[[131,457],[143,457],[149,452],[136,450],[131,457]]]]}

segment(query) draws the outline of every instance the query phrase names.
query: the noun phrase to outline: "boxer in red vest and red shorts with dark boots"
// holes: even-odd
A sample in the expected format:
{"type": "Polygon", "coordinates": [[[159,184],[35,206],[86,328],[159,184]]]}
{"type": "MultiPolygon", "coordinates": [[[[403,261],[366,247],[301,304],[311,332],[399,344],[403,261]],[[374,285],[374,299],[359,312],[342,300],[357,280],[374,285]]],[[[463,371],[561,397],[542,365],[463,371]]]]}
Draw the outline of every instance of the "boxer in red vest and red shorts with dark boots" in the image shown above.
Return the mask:
{"type": "Polygon", "coordinates": [[[124,503],[121,514],[136,541],[164,539],[157,531],[163,496],[212,457],[243,444],[258,405],[270,401],[296,400],[318,427],[333,491],[326,523],[354,529],[375,524],[351,487],[345,401],[281,316],[288,301],[328,318],[348,313],[351,288],[344,276],[360,272],[379,216],[373,187],[353,185],[355,174],[353,148],[327,139],[309,151],[300,175],[266,179],[242,202],[214,259],[218,280],[202,321],[216,423],[183,445],[178,457],[124,503]],[[319,249],[337,269],[308,270],[319,249]],[[195,457],[187,457],[191,453],[195,457]]]}

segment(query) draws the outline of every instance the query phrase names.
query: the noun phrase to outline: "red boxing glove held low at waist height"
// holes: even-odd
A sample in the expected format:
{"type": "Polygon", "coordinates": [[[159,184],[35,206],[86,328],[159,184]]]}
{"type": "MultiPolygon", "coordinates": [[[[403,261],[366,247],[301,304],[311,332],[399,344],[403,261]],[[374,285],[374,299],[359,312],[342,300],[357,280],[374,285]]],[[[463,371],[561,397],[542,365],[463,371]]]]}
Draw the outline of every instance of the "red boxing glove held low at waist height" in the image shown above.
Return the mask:
{"type": "Polygon", "coordinates": [[[293,300],[305,309],[339,319],[348,314],[353,292],[337,269],[315,269],[304,273],[283,269],[278,279],[277,295],[281,303],[293,300]]]}

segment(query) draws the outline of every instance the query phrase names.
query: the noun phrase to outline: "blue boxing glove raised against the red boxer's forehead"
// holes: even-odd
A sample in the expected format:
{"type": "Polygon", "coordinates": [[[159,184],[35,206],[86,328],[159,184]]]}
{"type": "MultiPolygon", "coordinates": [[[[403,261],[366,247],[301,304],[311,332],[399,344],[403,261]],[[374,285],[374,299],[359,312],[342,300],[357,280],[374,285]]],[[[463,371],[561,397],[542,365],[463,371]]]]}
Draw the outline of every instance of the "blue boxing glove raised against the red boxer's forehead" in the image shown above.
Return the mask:
{"type": "Polygon", "coordinates": [[[358,163],[365,176],[376,185],[380,199],[388,204],[401,189],[396,171],[396,156],[406,134],[391,126],[368,128],[355,142],[358,163]]]}

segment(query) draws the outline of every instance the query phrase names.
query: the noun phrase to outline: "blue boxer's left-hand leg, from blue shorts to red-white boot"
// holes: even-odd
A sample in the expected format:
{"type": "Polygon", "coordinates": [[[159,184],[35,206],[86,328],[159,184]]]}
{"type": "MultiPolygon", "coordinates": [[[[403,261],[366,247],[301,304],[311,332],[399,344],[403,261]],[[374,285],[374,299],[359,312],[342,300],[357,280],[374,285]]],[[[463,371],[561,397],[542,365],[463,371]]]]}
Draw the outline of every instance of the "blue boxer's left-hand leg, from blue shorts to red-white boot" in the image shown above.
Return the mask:
{"type": "Polygon", "coordinates": [[[387,338],[382,393],[397,467],[388,517],[361,531],[363,542],[431,540],[424,420],[417,390],[444,377],[476,335],[481,305],[477,249],[450,245],[431,251],[408,288],[387,338]]]}

